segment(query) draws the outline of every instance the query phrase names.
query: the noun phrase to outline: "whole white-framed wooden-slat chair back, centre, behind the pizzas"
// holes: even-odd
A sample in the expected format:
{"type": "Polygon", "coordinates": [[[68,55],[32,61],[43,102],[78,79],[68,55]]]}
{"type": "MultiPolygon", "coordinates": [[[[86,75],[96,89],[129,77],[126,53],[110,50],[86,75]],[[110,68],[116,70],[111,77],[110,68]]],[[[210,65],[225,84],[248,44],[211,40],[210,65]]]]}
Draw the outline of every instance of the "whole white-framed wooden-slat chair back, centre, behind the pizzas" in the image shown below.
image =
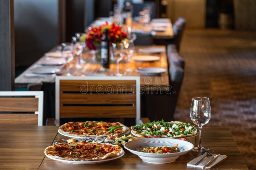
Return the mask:
{"type": "Polygon", "coordinates": [[[136,118],[140,124],[140,77],[68,77],[55,81],[55,124],[60,118],[136,118]]]}

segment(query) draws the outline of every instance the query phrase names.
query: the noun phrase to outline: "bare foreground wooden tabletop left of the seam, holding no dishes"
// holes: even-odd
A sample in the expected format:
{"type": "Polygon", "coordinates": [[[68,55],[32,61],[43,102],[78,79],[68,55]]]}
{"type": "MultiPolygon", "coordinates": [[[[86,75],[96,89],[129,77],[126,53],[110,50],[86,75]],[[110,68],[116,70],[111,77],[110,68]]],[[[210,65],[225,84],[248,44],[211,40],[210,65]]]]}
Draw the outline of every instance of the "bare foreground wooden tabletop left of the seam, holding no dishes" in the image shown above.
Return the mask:
{"type": "Polygon", "coordinates": [[[0,169],[37,169],[58,131],[56,126],[21,124],[0,126],[0,169]]]}

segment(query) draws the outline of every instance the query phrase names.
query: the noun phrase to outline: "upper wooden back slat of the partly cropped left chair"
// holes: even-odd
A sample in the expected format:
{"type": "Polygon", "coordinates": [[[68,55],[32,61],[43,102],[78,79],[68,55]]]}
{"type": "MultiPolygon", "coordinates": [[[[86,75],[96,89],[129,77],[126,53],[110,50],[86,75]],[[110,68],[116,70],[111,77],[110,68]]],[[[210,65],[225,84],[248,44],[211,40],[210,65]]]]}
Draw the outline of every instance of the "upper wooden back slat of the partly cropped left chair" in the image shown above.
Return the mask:
{"type": "Polygon", "coordinates": [[[38,98],[0,97],[0,111],[18,111],[18,112],[38,111],[38,98]]]}

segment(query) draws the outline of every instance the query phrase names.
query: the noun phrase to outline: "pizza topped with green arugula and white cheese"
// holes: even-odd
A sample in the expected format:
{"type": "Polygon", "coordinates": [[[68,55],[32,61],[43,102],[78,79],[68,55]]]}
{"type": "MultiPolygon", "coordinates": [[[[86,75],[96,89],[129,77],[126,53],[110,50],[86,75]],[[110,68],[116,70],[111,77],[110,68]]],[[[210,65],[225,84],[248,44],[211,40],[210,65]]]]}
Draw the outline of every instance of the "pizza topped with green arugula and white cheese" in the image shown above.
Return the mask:
{"type": "Polygon", "coordinates": [[[151,123],[132,126],[132,134],[138,137],[186,138],[198,134],[194,125],[172,121],[153,121],[151,123]]]}

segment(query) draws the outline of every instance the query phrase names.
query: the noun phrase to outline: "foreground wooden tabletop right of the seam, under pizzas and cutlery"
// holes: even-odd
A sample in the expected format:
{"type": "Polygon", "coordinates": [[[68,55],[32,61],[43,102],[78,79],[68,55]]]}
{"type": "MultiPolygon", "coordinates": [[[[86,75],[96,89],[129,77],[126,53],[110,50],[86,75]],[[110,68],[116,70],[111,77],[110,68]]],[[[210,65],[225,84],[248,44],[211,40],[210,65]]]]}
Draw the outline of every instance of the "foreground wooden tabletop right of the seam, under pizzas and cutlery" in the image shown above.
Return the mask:
{"type": "MultiPolygon", "coordinates": [[[[58,134],[55,139],[67,139],[68,137],[58,134]]],[[[198,136],[188,138],[189,142],[197,145],[198,136]]],[[[227,155],[228,158],[223,160],[218,165],[214,166],[212,169],[248,169],[237,145],[234,141],[233,136],[228,128],[204,128],[202,131],[202,144],[205,147],[214,150],[216,154],[227,155]]],[[[69,164],[65,162],[55,161],[44,157],[42,164],[39,169],[194,169],[192,167],[187,167],[187,163],[201,155],[202,153],[189,151],[188,153],[180,156],[175,162],[167,164],[149,164],[143,162],[137,155],[124,149],[124,156],[111,160],[108,162],[98,163],[98,164],[88,164],[88,165],[77,165],[69,164]]],[[[43,154],[43,153],[42,153],[43,154]]]]}

